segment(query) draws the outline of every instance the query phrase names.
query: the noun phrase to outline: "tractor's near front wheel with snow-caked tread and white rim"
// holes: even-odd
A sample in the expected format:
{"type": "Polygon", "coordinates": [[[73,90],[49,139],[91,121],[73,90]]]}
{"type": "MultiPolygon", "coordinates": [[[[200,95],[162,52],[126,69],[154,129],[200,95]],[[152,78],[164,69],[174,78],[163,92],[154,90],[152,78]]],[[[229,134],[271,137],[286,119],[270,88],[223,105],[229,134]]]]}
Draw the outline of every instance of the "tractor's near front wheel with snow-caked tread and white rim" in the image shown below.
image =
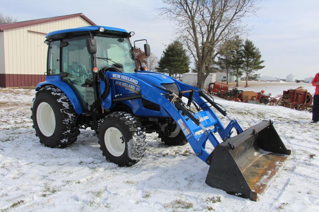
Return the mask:
{"type": "Polygon", "coordinates": [[[99,144],[103,156],[118,166],[136,164],[145,152],[145,135],[137,117],[126,112],[114,112],[102,119],[99,144]]]}

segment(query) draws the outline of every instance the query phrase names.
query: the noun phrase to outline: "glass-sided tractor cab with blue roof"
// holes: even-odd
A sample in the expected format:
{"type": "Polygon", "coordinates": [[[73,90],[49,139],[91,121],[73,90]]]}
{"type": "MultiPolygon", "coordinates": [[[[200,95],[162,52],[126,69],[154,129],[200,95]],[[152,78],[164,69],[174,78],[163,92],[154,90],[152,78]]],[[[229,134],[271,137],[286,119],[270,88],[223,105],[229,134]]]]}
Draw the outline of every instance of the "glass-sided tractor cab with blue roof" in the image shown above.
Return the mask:
{"type": "MultiPolygon", "coordinates": [[[[133,53],[136,47],[131,46],[129,39],[132,35],[134,32],[105,26],[48,33],[45,41],[49,45],[47,81],[54,79],[52,76],[60,76],[76,92],[82,109],[89,111],[100,94],[99,70],[137,71],[133,53]]],[[[149,54],[148,44],[145,48],[149,54]]]]}

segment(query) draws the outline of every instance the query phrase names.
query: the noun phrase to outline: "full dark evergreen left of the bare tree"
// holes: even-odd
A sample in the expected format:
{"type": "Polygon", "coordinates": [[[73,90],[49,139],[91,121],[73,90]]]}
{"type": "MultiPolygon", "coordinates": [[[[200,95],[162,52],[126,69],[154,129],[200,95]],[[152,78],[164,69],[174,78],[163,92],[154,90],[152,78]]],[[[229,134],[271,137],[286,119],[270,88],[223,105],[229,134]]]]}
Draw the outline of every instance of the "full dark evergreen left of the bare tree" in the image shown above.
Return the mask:
{"type": "Polygon", "coordinates": [[[177,74],[184,74],[189,71],[189,57],[186,55],[186,50],[183,48],[181,42],[175,40],[170,43],[161,58],[159,59],[158,67],[156,68],[159,72],[168,73],[169,76],[177,74]]]}

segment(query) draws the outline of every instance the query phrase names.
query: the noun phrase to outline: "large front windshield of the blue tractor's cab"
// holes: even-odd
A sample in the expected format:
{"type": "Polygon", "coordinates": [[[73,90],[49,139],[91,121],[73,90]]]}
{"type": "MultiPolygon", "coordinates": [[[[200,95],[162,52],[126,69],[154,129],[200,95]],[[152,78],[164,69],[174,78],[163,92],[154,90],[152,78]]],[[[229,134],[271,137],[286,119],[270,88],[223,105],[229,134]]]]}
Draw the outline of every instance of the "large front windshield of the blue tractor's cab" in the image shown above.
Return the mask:
{"type": "Polygon", "coordinates": [[[128,38],[100,34],[95,36],[94,39],[97,44],[95,56],[99,69],[114,67],[125,73],[135,72],[136,64],[128,38]]]}

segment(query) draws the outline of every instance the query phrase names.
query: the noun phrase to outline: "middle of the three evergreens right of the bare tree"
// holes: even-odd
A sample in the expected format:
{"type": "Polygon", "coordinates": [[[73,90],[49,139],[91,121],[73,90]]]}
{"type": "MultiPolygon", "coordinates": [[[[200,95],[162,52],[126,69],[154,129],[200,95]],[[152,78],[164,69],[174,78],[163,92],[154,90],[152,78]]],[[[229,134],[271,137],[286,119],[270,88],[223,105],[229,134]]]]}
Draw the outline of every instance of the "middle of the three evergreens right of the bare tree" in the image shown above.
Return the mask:
{"type": "Polygon", "coordinates": [[[234,74],[236,76],[236,86],[238,85],[238,78],[241,77],[241,70],[243,67],[243,49],[242,49],[243,43],[242,39],[239,38],[239,36],[236,36],[234,39],[234,55],[232,57],[232,68],[234,69],[234,74]]]}

